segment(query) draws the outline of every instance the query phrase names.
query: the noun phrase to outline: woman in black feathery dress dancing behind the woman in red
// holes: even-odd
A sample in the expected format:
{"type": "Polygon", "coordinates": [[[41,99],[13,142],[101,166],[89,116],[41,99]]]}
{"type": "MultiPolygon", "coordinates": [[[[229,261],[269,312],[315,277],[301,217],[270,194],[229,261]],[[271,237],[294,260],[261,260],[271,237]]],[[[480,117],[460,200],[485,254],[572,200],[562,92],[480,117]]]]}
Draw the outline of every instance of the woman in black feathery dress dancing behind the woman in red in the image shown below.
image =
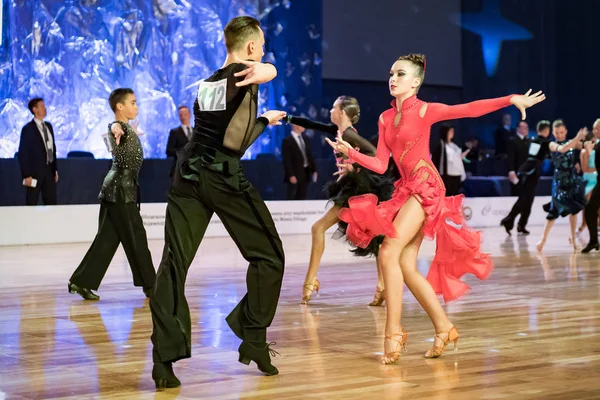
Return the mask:
{"type": "MultiPolygon", "coordinates": [[[[329,112],[332,124],[322,124],[314,122],[306,118],[294,117],[289,115],[287,121],[294,125],[302,126],[306,129],[314,129],[317,131],[329,133],[332,135],[338,132],[342,133],[342,137],[348,143],[351,144],[352,148],[359,149],[363,154],[375,155],[375,146],[373,146],[367,139],[361,137],[353,124],[358,123],[360,117],[360,106],[358,101],[349,96],[340,96],[334,103],[331,111],[329,112]]],[[[311,229],[312,234],[312,247],[310,250],[310,261],[308,264],[308,271],[304,279],[304,286],[302,287],[302,299],[301,304],[308,304],[311,299],[313,291],[319,291],[320,283],[317,279],[317,272],[321,264],[321,258],[325,251],[325,232],[331,228],[335,223],[339,223],[338,213],[342,207],[348,206],[348,199],[352,196],[365,194],[365,193],[376,193],[377,197],[381,200],[388,200],[392,191],[394,190],[393,183],[390,179],[386,179],[379,175],[373,174],[363,168],[355,169],[351,161],[342,160],[339,154],[336,154],[338,160],[338,167],[340,170],[336,173],[340,175],[339,179],[334,182],[330,182],[325,187],[327,191],[327,198],[333,202],[331,207],[317,222],[315,222],[311,229]]],[[[344,158],[347,158],[344,156],[344,158]]],[[[345,234],[346,224],[342,222],[340,224],[339,232],[336,237],[341,237],[345,234]]],[[[379,251],[379,245],[383,237],[378,240],[374,240],[373,244],[366,249],[355,249],[354,254],[357,256],[370,256],[375,255],[379,251]]],[[[377,267],[377,288],[373,301],[369,303],[371,306],[380,306],[384,301],[384,286],[383,278],[381,275],[381,269],[377,267]]]]}

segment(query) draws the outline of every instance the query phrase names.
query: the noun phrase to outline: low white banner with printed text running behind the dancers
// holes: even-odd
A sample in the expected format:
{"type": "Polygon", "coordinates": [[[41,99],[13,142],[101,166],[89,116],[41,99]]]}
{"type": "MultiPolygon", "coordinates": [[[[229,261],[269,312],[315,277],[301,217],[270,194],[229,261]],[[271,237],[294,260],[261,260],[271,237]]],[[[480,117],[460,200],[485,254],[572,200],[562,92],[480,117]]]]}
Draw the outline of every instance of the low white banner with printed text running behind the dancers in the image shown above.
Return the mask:
{"type": "MultiPolygon", "coordinates": [[[[469,226],[497,227],[510,211],[516,197],[467,198],[463,212],[469,226]]],[[[530,225],[542,225],[546,213],[542,205],[550,197],[535,199],[530,225]]],[[[310,234],[310,228],[326,211],[326,200],[268,201],[281,235],[310,234]]],[[[148,239],[164,237],[166,203],[142,204],[141,215],[148,239]]],[[[91,242],[98,229],[100,205],[63,205],[37,207],[0,207],[0,246],[91,242]]],[[[517,220],[518,221],[518,220],[517,220]]],[[[557,223],[568,223],[560,218],[557,223]]],[[[335,226],[331,228],[335,230],[335,226]]],[[[227,236],[215,215],[206,237],[227,236]]]]}

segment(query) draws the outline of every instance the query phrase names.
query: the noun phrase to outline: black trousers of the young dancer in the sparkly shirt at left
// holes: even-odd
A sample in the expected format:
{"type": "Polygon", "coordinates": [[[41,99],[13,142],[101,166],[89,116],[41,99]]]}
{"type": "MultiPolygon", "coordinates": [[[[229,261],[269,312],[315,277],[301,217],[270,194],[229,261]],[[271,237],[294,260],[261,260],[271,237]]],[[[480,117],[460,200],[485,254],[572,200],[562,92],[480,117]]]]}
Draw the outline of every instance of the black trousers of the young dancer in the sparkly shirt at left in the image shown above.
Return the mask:
{"type": "Polygon", "coordinates": [[[140,211],[137,204],[125,202],[100,204],[98,233],[69,281],[98,290],[119,243],[123,244],[134,286],[145,290],[154,287],[156,272],[140,211]]]}

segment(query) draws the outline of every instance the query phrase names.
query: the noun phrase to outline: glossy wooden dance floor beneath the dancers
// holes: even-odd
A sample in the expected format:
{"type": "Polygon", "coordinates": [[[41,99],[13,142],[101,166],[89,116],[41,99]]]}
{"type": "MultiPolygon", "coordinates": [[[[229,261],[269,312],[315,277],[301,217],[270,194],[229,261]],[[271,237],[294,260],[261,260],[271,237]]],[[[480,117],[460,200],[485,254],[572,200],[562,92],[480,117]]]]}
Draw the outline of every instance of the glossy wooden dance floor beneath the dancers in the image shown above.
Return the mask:
{"type": "MultiPolygon", "coordinates": [[[[237,362],[224,318],[245,292],[246,264],[230,239],[207,239],[190,270],[193,357],[175,364],[179,389],[155,392],[148,301],[131,284],[122,250],[98,302],[67,293],[87,244],[0,248],[0,399],[598,399],[600,253],[573,254],[556,226],[543,255],[529,237],[485,232],[496,269],[447,306],[459,351],[423,354],[433,329],[405,291],[408,352],[379,364],[385,308],[368,307],[373,260],[328,239],[322,292],[299,304],[310,237],[284,237],[286,274],[268,339],[280,375],[237,362]]],[[[585,234],[587,241],[587,234],[585,234]]],[[[155,263],[161,241],[152,241],[155,263]]],[[[433,254],[426,242],[420,269],[433,254]]],[[[158,264],[156,264],[158,267],[158,264]]]]}

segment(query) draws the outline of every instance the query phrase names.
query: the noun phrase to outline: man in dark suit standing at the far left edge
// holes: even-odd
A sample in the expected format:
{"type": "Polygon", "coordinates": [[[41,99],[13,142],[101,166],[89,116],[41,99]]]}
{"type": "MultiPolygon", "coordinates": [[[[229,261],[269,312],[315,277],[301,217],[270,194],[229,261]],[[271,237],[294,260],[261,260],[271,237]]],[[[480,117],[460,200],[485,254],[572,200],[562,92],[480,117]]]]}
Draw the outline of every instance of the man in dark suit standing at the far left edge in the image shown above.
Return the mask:
{"type": "Polygon", "coordinates": [[[21,130],[18,155],[25,186],[25,203],[28,206],[37,205],[41,193],[44,205],[55,205],[58,171],[54,129],[44,121],[47,112],[42,98],[31,99],[28,107],[33,120],[21,130]]]}

